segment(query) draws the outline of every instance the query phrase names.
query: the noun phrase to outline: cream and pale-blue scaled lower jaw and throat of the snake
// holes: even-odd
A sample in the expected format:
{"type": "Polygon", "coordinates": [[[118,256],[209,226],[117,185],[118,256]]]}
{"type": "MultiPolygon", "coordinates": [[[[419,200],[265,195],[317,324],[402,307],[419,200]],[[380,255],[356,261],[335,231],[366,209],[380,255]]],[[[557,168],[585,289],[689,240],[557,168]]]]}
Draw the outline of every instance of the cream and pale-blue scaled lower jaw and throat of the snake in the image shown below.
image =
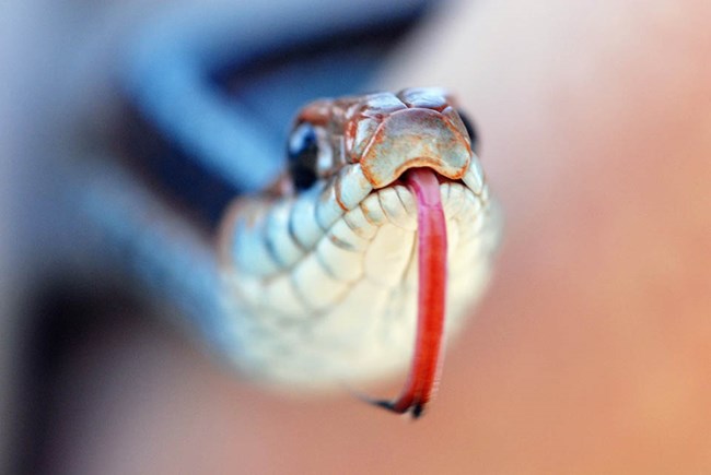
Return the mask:
{"type": "MultiPolygon", "coordinates": [[[[486,286],[498,219],[486,187],[477,194],[444,181],[440,193],[450,241],[446,332],[456,333],[486,286]]],[[[235,360],[263,379],[302,388],[400,371],[416,333],[416,201],[394,185],[326,228],[318,203],[311,193],[242,200],[225,218],[224,305],[246,321],[235,325],[245,342],[235,360]]]]}

